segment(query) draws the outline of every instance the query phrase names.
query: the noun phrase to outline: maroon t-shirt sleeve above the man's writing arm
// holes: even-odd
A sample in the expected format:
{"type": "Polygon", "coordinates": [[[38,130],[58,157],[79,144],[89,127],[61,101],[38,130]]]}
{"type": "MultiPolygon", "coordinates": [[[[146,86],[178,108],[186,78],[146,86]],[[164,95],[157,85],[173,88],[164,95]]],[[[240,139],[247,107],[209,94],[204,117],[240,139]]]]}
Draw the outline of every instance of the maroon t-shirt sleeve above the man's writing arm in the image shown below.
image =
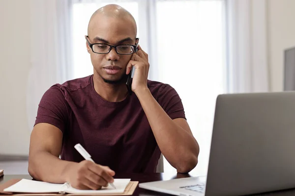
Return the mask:
{"type": "Polygon", "coordinates": [[[58,86],[50,87],[40,100],[35,124],[49,123],[64,133],[68,120],[68,104],[58,86]]]}

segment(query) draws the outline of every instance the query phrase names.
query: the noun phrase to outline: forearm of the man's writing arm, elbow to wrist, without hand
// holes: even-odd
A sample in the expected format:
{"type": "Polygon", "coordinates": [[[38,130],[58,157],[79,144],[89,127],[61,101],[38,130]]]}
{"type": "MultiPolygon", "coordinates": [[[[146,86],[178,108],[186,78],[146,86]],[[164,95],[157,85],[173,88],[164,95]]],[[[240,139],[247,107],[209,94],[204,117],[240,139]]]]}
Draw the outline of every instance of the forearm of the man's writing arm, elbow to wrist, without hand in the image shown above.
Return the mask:
{"type": "Polygon", "coordinates": [[[66,173],[74,162],[60,160],[46,151],[39,151],[29,156],[29,174],[41,181],[65,183],[66,173]]]}

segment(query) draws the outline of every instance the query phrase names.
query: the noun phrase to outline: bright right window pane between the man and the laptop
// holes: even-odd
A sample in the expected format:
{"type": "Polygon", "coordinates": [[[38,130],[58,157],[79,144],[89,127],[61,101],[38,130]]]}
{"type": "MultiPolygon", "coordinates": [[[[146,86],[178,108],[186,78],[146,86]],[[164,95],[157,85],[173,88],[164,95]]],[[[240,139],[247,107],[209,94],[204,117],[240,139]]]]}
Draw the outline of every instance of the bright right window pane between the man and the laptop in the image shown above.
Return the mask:
{"type": "MultiPolygon", "coordinates": [[[[195,170],[207,175],[215,99],[226,90],[223,2],[179,0],[156,5],[158,80],[174,87],[182,99],[187,122],[200,145],[195,170]]],[[[164,171],[175,169],[164,162],[164,171]]]]}

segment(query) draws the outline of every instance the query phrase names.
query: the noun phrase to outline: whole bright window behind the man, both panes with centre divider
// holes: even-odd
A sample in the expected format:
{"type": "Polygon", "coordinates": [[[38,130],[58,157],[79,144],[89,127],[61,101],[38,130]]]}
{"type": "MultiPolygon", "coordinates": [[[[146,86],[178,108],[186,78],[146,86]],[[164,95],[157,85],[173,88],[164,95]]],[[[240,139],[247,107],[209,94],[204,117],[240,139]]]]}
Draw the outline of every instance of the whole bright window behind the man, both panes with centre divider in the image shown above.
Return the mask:
{"type": "MultiPolygon", "coordinates": [[[[170,84],[182,99],[187,121],[200,145],[195,171],[206,175],[215,100],[218,94],[226,93],[224,1],[114,2],[137,22],[140,44],[152,63],[149,78],[170,84]]],[[[74,4],[74,77],[93,73],[84,38],[89,18],[97,8],[114,2],[74,4]]],[[[176,170],[165,160],[164,172],[176,170]]]]}

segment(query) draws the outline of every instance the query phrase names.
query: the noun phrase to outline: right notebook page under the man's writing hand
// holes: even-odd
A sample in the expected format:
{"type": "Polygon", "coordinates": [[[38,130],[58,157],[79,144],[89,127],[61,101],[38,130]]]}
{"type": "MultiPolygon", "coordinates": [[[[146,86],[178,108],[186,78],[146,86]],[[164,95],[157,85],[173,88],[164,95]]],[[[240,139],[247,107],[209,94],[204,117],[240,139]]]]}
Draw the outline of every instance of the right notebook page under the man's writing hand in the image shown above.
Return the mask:
{"type": "Polygon", "coordinates": [[[80,190],[73,187],[69,187],[65,190],[69,194],[79,194],[79,195],[101,195],[101,194],[121,194],[124,193],[127,185],[131,179],[114,179],[114,189],[111,185],[108,187],[102,187],[101,190],[80,190]]]}

